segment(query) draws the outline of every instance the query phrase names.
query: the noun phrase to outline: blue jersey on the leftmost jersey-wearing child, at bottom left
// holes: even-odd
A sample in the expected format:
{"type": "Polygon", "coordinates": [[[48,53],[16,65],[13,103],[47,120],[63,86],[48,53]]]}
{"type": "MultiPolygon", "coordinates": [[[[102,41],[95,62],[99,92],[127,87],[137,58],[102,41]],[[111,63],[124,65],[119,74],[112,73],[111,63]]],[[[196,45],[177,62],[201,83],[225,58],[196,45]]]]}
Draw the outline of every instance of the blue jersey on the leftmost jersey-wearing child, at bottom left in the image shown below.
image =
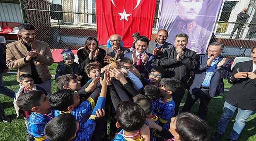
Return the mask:
{"type": "Polygon", "coordinates": [[[51,109],[50,114],[39,114],[32,112],[28,118],[28,134],[32,135],[35,138],[35,141],[48,141],[46,139],[44,129],[46,123],[54,118],[54,109],[51,109]]]}

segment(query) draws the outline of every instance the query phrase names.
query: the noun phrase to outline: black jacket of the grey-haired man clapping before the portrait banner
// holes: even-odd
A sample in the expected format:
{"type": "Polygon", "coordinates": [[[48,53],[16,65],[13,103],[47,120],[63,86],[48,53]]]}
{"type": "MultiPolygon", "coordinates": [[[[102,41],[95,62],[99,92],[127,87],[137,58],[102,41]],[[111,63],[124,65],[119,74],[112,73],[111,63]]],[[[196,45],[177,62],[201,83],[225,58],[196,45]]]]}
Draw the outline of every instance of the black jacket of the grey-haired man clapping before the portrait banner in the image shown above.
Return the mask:
{"type": "Polygon", "coordinates": [[[159,60],[159,65],[165,68],[166,78],[176,78],[182,84],[187,84],[190,72],[198,67],[198,56],[196,52],[189,49],[184,49],[184,56],[180,61],[176,60],[176,56],[175,47],[166,49],[159,60]]]}

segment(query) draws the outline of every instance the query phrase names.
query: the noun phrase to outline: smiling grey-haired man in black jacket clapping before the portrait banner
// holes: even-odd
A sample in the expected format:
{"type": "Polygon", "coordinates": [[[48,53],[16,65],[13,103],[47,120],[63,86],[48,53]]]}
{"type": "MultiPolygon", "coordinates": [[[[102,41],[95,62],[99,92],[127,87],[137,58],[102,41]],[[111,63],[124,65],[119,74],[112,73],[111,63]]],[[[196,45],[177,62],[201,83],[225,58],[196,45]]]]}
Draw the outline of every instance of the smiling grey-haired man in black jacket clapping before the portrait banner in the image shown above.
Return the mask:
{"type": "Polygon", "coordinates": [[[165,68],[166,78],[176,78],[180,81],[180,87],[173,94],[175,102],[175,115],[178,115],[180,101],[184,96],[187,81],[190,78],[190,72],[198,66],[198,57],[196,52],[187,49],[188,36],[185,33],[175,35],[174,47],[166,49],[163,52],[159,65],[165,68]]]}

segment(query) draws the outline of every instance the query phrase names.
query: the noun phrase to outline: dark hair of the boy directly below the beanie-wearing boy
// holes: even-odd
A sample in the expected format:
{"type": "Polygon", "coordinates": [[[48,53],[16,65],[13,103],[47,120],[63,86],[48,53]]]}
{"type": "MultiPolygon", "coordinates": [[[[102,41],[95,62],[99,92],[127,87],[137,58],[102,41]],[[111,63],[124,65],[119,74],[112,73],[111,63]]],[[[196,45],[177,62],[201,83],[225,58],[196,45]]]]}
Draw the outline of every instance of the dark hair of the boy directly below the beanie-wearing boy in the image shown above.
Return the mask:
{"type": "Polygon", "coordinates": [[[63,90],[64,85],[69,85],[69,82],[71,80],[76,80],[76,79],[77,79],[77,77],[74,74],[65,74],[63,76],[59,76],[56,79],[57,88],[60,89],[60,90],[63,90]]]}

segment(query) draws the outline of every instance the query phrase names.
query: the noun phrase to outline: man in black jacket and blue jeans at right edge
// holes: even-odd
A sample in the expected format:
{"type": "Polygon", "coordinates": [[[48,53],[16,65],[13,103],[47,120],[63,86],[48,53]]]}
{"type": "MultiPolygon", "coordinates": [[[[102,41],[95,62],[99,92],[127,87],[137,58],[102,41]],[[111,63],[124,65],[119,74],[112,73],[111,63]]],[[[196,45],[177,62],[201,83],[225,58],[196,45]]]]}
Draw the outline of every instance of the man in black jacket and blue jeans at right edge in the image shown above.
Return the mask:
{"type": "Polygon", "coordinates": [[[224,134],[228,122],[236,114],[236,122],[229,135],[229,141],[237,141],[245,127],[246,120],[256,110],[256,46],[251,50],[252,61],[237,63],[228,76],[228,83],[232,83],[223,107],[223,114],[217,127],[213,141],[218,141],[224,134]]]}

